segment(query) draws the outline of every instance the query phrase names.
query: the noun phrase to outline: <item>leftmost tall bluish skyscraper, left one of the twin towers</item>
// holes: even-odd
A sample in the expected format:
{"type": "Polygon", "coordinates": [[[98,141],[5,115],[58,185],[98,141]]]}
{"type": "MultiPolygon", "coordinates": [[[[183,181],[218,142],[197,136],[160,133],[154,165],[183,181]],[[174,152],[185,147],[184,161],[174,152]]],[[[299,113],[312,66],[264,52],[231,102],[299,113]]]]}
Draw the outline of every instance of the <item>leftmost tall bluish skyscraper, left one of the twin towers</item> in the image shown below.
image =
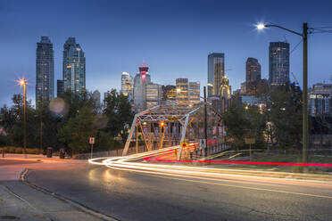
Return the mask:
{"type": "Polygon", "coordinates": [[[36,50],[36,105],[54,99],[54,51],[49,37],[41,37],[36,50]]]}

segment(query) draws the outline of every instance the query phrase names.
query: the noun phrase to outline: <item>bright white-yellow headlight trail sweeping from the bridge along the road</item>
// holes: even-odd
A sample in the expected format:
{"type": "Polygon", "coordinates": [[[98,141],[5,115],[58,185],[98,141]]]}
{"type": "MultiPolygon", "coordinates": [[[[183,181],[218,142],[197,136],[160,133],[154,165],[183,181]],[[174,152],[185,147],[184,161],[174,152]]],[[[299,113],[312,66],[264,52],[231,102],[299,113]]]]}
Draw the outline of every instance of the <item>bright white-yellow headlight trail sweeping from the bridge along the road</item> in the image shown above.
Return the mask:
{"type": "Polygon", "coordinates": [[[328,195],[308,194],[307,192],[287,192],[278,190],[280,184],[283,185],[297,185],[310,186],[312,188],[325,189],[328,192],[332,190],[332,184],[324,181],[314,180],[297,180],[294,178],[282,178],[278,176],[278,172],[263,172],[260,171],[261,176],[254,176],[248,174],[241,174],[247,171],[237,169],[223,169],[223,168],[204,168],[204,167],[188,167],[181,165],[165,165],[160,163],[148,163],[138,160],[145,160],[145,158],[160,158],[165,154],[173,153],[177,147],[165,148],[162,150],[142,152],[126,157],[113,158],[97,158],[89,160],[92,164],[104,165],[107,168],[135,172],[145,174],[147,176],[157,176],[178,181],[186,181],[197,184],[215,184],[227,186],[230,188],[241,188],[248,190],[256,190],[262,192],[278,192],[284,194],[295,194],[303,197],[317,197],[332,199],[328,195]],[[232,174],[233,173],[233,174],[232,174]],[[277,176],[270,176],[271,174],[277,176]],[[264,175],[267,175],[264,177],[264,175]],[[263,185],[263,188],[257,188],[256,184],[263,185]]]}

